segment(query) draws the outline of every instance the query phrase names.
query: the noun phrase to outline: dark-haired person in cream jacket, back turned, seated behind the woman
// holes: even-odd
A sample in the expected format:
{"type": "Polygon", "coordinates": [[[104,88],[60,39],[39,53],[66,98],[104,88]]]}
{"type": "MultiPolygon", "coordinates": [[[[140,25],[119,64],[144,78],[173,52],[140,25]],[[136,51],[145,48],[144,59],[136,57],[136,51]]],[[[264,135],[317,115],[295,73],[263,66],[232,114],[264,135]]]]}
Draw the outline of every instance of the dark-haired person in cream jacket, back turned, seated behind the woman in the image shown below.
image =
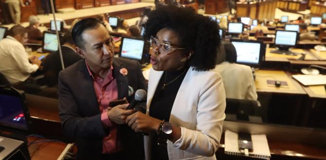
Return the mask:
{"type": "Polygon", "coordinates": [[[224,47],[221,54],[225,54],[225,62],[217,64],[217,71],[225,88],[226,98],[257,100],[254,76],[249,66],[235,64],[236,50],[231,42],[222,41],[224,47]]]}

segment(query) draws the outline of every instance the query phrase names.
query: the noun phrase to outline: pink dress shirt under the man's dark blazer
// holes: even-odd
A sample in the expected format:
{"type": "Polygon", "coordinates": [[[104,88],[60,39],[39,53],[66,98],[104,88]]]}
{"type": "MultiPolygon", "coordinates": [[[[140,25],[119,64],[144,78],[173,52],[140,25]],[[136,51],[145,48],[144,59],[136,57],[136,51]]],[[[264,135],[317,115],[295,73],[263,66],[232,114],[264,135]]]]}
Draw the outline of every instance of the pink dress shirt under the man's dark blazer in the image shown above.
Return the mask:
{"type": "MultiPolygon", "coordinates": [[[[93,79],[93,86],[95,89],[97,103],[100,106],[101,120],[104,128],[110,128],[109,135],[103,138],[102,154],[110,154],[118,152],[117,149],[117,124],[111,122],[107,113],[109,102],[118,99],[117,81],[112,76],[113,66],[109,70],[108,75],[103,79],[97,75],[93,75],[91,69],[86,63],[87,69],[93,79]]],[[[118,143],[120,150],[121,144],[118,143]]]]}

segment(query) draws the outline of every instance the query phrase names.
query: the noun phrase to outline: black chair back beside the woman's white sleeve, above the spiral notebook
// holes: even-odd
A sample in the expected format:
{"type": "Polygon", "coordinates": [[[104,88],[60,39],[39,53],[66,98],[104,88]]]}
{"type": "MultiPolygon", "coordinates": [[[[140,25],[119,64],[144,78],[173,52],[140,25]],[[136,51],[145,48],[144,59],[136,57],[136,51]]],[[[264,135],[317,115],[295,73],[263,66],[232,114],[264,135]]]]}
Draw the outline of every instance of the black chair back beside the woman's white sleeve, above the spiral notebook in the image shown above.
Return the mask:
{"type": "Polygon", "coordinates": [[[226,98],[226,120],[262,123],[260,103],[255,100],[226,98]]]}

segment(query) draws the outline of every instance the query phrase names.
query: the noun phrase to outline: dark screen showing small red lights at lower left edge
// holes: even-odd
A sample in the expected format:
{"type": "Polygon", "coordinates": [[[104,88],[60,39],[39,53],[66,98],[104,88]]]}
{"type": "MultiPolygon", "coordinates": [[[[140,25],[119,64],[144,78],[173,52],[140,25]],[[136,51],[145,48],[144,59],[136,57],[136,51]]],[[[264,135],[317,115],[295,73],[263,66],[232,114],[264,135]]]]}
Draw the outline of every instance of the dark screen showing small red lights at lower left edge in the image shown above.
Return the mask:
{"type": "Polygon", "coordinates": [[[23,91],[0,88],[0,129],[28,131],[30,114],[23,91]]]}

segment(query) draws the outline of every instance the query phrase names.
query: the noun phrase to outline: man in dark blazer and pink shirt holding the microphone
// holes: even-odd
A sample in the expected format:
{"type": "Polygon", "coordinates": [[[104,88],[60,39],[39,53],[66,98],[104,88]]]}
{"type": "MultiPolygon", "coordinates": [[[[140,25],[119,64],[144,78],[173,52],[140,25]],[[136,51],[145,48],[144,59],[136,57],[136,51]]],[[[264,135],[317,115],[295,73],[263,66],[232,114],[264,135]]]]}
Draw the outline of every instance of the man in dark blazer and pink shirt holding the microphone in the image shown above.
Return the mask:
{"type": "Polygon", "coordinates": [[[142,160],[141,135],[125,125],[134,111],[125,110],[128,104],[108,107],[124,97],[130,102],[128,90],[146,89],[140,64],[113,58],[113,39],[95,18],[78,21],[72,38],[83,59],[59,73],[59,116],[77,143],[77,159],[142,160]]]}

